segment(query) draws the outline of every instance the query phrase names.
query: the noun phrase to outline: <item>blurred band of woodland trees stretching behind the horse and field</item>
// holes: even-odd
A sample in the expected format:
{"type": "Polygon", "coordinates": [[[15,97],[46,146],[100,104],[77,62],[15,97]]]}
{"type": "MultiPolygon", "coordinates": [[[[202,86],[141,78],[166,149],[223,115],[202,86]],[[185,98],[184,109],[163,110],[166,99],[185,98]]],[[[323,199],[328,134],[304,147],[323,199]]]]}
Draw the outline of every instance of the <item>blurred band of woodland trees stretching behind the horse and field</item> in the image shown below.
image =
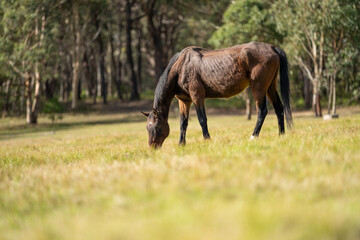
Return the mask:
{"type": "Polygon", "coordinates": [[[250,41],[287,52],[295,107],[335,114],[359,103],[359,11],[356,0],[3,0],[2,116],[36,123],[47,102],[151,97],[175,52],[250,41]]]}

